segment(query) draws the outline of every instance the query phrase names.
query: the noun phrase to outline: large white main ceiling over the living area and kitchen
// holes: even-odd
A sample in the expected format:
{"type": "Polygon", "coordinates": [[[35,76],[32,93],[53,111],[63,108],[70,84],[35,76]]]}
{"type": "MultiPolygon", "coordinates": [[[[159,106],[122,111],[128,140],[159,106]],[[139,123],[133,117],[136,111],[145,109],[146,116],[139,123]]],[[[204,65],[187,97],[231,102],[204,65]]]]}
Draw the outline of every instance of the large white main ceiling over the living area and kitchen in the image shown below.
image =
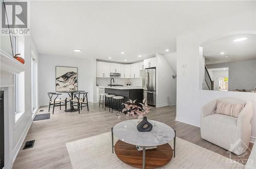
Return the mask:
{"type": "Polygon", "coordinates": [[[241,1],[31,1],[40,54],[135,62],[176,51],[176,37],[255,10],[241,1]],[[218,12],[216,12],[218,11],[218,12]],[[80,53],[73,48],[82,50],[80,53]],[[125,52],[121,54],[121,52],[125,52]],[[142,55],[141,58],[138,55],[142,55]]]}

